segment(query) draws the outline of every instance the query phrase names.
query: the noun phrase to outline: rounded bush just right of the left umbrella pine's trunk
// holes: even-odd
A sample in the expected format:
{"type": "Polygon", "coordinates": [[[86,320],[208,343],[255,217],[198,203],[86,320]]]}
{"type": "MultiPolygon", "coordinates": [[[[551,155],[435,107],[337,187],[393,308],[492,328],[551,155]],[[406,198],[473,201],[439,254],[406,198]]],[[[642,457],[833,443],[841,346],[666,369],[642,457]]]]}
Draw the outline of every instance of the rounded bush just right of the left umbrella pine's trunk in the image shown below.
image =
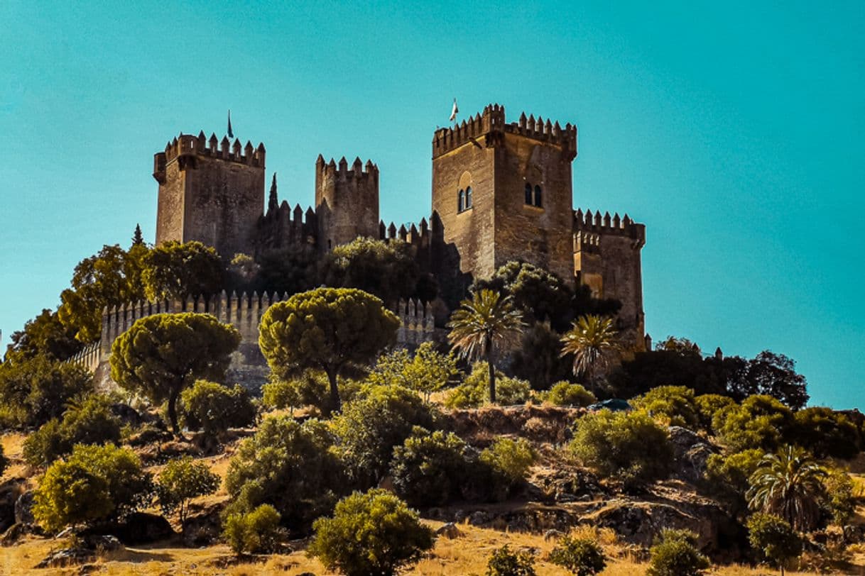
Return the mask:
{"type": "Polygon", "coordinates": [[[255,421],[255,407],[247,389],[234,384],[227,388],[215,382],[197,380],[181,395],[183,419],[191,430],[201,428],[215,436],[228,428],[250,426],[255,421]]]}

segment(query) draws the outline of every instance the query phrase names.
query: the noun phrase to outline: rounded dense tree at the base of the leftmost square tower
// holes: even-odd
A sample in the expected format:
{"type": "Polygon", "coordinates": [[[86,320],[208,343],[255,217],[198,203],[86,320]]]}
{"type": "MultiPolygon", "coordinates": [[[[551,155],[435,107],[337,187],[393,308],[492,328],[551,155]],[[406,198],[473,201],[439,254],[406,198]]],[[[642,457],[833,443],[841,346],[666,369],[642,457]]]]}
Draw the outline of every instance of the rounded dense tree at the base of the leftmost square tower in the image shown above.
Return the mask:
{"type": "Polygon", "coordinates": [[[215,294],[222,286],[222,262],[216,250],[201,242],[169,240],[144,256],[144,294],[151,301],[183,300],[215,294]]]}

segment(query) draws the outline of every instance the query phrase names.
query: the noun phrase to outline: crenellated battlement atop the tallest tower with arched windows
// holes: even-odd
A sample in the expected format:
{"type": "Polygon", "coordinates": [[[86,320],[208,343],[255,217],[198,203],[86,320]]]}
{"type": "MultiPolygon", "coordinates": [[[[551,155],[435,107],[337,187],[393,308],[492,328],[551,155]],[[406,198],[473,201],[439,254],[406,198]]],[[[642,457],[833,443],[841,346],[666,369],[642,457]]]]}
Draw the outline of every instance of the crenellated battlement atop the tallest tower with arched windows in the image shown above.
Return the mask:
{"type": "Polygon", "coordinates": [[[562,128],[558,122],[552,123],[549,119],[544,121],[540,116],[537,119],[534,115],[526,117],[525,112],[520,115],[518,122],[507,123],[504,106],[489,104],[484,108],[483,114],[476,114],[452,127],[436,130],[432,137],[432,157],[446,154],[469,142],[480,147],[481,137],[484,138],[483,146],[489,148],[500,142],[497,135],[502,133],[525,136],[559,146],[567,153],[569,160],[573,160],[577,155],[575,125],[566,123],[562,128]]]}

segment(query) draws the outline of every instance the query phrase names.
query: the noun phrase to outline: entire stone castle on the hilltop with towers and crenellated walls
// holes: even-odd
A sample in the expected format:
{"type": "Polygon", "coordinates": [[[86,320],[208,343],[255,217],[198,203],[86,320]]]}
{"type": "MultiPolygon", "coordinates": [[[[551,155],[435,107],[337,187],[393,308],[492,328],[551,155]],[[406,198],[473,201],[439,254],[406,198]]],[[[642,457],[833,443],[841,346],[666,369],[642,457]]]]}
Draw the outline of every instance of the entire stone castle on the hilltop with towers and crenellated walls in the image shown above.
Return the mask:
{"type": "MultiPolygon", "coordinates": [[[[227,137],[220,141],[203,132],[182,133],[154,156],[156,243],[198,240],[230,258],[292,245],[312,245],[324,253],[359,236],[400,239],[411,244],[420,268],[438,280],[445,307],[453,307],[473,279],[488,278],[504,263],[521,260],[586,285],[595,297],[620,301],[618,327],[629,345],[640,350],[645,226],[627,215],[573,210],[576,155],[576,126],[525,114],[508,123],[504,107],[490,104],[462,123],[435,131],[430,218],[397,228],[379,219],[379,168],[372,161],[356,158],[349,165],[344,157],[336,162],[319,155],[315,207],[305,212],[279,202],[274,174],[265,210],[263,143],[242,146],[227,137]]],[[[258,319],[274,296],[266,299],[223,293],[202,304],[173,307],[201,306],[201,311],[241,323],[245,345],[256,347],[258,319]]],[[[146,306],[146,313],[157,311],[146,306]]],[[[404,325],[413,326],[412,336],[404,329],[400,341],[432,338],[429,306],[400,302],[398,312],[404,325]]],[[[121,328],[146,313],[141,303],[106,310],[101,353],[86,350],[80,357],[89,358],[86,364],[104,363],[121,328]]]]}

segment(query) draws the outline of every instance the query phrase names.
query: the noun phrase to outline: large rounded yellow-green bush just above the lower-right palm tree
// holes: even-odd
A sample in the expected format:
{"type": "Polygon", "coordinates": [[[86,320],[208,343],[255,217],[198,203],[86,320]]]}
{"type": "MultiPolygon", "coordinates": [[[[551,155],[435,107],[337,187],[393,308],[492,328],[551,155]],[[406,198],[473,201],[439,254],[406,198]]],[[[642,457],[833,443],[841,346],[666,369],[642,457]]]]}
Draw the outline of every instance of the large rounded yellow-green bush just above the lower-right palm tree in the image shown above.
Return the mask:
{"type": "Polygon", "coordinates": [[[740,405],[719,410],[712,427],[731,452],[759,448],[775,452],[793,426],[790,408],[772,396],[748,396],[740,405]]]}

